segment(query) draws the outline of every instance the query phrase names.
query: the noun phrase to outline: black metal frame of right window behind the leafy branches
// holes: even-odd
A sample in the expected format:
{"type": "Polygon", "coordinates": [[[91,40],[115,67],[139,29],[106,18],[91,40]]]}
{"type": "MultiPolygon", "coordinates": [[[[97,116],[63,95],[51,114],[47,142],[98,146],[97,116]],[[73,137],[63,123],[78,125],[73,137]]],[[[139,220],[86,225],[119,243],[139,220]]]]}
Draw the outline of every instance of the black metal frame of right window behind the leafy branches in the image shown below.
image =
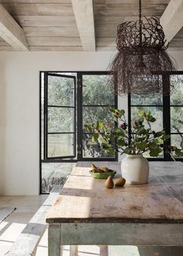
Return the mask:
{"type": "MultiPolygon", "coordinates": [[[[171,72],[163,72],[160,75],[162,76],[162,85],[163,85],[163,92],[165,90],[165,86],[169,85],[170,90],[170,78],[171,75],[183,75],[183,71],[171,71],[171,72]]],[[[166,89],[167,90],[167,89],[166,89]]],[[[171,132],[171,107],[175,105],[171,105],[171,95],[163,95],[163,104],[162,105],[133,105],[131,104],[131,95],[128,95],[128,122],[129,122],[129,133],[131,133],[131,107],[162,107],[163,109],[163,129],[167,134],[182,134],[183,133],[172,133],[171,132]]],[[[175,106],[176,107],[176,106],[175,106]]],[[[178,105],[178,107],[183,107],[182,105],[178,105]]],[[[171,138],[166,141],[166,145],[171,145],[171,138]]],[[[148,161],[173,161],[169,154],[167,154],[166,150],[164,150],[164,157],[147,157],[148,161]]],[[[176,158],[176,161],[183,161],[182,158],[176,158]]]]}

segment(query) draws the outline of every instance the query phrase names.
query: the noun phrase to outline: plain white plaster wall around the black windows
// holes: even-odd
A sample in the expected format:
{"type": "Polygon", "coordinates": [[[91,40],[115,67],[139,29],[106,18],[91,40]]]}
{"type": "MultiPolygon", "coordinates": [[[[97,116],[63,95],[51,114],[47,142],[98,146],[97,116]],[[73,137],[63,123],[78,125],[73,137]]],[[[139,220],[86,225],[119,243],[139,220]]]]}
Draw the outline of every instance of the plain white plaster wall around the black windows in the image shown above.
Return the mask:
{"type": "MultiPolygon", "coordinates": [[[[183,52],[172,55],[183,70],[183,52]]],[[[39,71],[105,71],[111,57],[110,52],[0,53],[0,194],[39,193],[39,71]]],[[[121,104],[126,106],[126,99],[121,104]]]]}

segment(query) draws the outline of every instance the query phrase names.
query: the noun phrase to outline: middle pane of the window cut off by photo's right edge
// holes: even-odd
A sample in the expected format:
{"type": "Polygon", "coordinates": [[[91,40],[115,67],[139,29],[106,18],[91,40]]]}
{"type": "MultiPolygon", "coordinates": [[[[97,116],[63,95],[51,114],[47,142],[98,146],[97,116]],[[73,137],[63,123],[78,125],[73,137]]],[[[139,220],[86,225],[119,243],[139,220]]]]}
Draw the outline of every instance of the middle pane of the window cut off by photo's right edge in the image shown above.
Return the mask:
{"type": "Polygon", "coordinates": [[[171,107],[171,132],[183,133],[183,107],[171,107]]]}

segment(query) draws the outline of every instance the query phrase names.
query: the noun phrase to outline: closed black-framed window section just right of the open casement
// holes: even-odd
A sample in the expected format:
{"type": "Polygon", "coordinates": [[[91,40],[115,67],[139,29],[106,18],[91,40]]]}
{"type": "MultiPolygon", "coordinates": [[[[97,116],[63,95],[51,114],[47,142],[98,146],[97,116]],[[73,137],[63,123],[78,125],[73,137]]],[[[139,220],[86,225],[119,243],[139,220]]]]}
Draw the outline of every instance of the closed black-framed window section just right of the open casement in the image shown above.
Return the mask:
{"type": "Polygon", "coordinates": [[[106,72],[81,73],[79,82],[81,84],[81,100],[79,104],[80,141],[78,159],[86,161],[87,159],[97,158],[98,160],[115,160],[112,156],[103,152],[100,144],[91,140],[91,133],[85,130],[85,124],[96,123],[101,121],[106,125],[115,126],[114,119],[109,109],[117,108],[117,96],[114,95],[114,89],[109,85],[109,76],[106,72]]]}

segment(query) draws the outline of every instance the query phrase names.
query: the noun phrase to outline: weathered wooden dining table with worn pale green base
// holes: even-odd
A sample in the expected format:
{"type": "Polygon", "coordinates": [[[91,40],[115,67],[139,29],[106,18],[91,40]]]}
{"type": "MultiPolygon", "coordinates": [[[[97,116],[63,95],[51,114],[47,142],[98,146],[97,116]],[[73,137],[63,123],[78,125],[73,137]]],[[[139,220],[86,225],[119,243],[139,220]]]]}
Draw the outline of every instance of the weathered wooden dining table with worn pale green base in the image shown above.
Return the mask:
{"type": "MultiPolygon", "coordinates": [[[[120,162],[94,162],[117,171],[120,162]]],[[[150,161],[149,183],[106,189],[78,162],[47,213],[48,254],[61,245],[183,245],[183,163],[150,161]]]]}

